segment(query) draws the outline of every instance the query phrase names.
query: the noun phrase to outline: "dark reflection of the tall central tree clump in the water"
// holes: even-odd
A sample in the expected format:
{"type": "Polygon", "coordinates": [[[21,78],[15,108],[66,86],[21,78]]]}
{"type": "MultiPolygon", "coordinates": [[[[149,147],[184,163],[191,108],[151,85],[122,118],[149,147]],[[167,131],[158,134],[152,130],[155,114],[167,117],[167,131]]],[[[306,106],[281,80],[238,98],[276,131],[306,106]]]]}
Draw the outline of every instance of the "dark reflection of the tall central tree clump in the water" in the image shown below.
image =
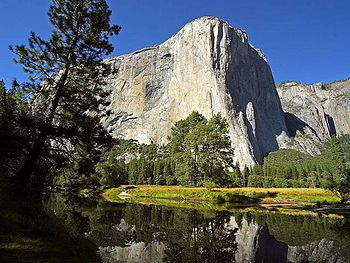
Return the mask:
{"type": "Polygon", "coordinates": [[[196,210],[189,214],[189,224],[183,222],[168,233],[165,262],[235,262],[237,229],[225,227],[230,214],[220,212],[212,218],[196,210]]]}

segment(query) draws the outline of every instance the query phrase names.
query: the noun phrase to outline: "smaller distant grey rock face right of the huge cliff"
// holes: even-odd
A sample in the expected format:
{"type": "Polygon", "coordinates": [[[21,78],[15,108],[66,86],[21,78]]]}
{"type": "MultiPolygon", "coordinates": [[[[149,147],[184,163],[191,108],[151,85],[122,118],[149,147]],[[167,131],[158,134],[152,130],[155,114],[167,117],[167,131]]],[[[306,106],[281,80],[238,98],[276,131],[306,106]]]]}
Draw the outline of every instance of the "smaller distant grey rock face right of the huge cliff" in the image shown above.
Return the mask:
{"type": "Polygon", "coordinates": [[[294,148],[319,153],[317,143],[350,134],[350,79],[330,84],[287,82],[277,86],[294,148]]]}

